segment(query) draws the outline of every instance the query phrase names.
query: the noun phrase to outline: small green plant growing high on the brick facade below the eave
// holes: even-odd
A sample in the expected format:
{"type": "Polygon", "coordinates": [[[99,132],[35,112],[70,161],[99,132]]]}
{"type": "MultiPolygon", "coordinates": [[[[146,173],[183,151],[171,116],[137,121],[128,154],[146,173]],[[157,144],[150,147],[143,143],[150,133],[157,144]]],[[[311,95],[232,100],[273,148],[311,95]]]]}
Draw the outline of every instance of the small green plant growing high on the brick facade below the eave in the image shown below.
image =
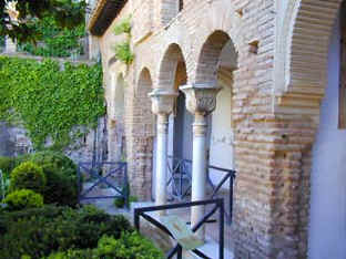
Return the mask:
{"type": "Polygon", "coordinates": [[[131,51],[131,15],[113,28],[115,35],[126,34],[126,40],[114,45],[115,58],[125,64],[131,64],[134,54],[131,51]]]}

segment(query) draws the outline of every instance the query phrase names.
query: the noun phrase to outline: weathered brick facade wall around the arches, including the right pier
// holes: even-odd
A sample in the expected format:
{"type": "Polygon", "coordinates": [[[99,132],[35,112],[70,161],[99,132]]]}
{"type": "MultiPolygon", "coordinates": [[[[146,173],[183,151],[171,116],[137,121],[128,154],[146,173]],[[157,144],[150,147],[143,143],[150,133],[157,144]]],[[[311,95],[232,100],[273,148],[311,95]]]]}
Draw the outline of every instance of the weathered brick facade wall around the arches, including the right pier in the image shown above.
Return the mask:
{"type": "MultiPolygon", "coordinates": [[[[336,1],[317,2],[328,10],[336,6],[336,1]]],[[[189,83],[216,80],[221,49],[231,40],[237,51],[232,85],[238,172],[235,256],[241,259],[305,258],[311,147],[318,125],[319,101],[308,100],[303,107],[292,107],[292,103],[301,102],[299,96],[274,91],[276,85],[282,85],[274,73],[274,58],[281,56],[275,49],[274,0],[185,0],[184,10],[177,15],[173,14],[176,13],[173,6],[169,0],[143,1],[143,6],[132,2],[112,24],[130,13],[133,17],[135,60],[125,76],[128,162],[133,191],[149,196],[154,135],[146,96],[150,89],[176,87],[172,71],[179,62],[185,63],[189,83]],[[151,11],[146,10],[150,6],[151,11]],[[143,71],[150,81],[143,81],[143,71]],[[274,97],[274,92],[281,95],[274,97]]],[[[294,15],[287,17],[294,19],[294,15]]],[[[289,19],[286,21],[292,24],[289,19]]],[[[112,58],[110,42],[116,41],[112,27],[101,39],[105,65],[112,58]]],[[[286,39],[289,33],[281,37],[286,39]]],[[[106,68],[104,71],[108,73],[106,68]]]]}

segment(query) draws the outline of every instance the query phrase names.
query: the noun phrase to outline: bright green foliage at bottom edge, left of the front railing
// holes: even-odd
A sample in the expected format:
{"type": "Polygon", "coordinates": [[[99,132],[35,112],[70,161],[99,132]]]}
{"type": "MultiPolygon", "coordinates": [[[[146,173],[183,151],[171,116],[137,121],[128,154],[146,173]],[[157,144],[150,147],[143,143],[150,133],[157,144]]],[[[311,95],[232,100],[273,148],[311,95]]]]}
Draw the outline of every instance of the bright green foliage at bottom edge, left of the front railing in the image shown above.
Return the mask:
{"type": "Polygon", "coordinates": [[[163,259],[163,253],[138,232],[123,232],[121,238],[103,236],[98,248],[58,252],[48,259],[163,259]]]}

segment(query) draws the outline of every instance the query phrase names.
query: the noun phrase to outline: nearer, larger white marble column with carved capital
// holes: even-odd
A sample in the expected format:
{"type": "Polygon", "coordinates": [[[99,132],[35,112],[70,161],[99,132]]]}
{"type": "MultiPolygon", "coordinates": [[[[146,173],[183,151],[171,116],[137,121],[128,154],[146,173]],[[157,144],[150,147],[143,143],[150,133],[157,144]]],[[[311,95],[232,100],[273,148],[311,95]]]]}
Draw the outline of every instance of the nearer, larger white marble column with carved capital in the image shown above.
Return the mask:
{"type": "MultiPolygon", "coordinates": [[[[192,155],[192,201],[206,199],[206,116],[216,107],[216,95],[221,87],[213,84],[194,84],[180,87],[186,96],[186,108],[194,115],[192,155]]],[[[204,216],[204,206],[192,207],[191,224],[196,225],[204,216]]],[[[197,231],[205,238],[205,228],[197,231]]]]}

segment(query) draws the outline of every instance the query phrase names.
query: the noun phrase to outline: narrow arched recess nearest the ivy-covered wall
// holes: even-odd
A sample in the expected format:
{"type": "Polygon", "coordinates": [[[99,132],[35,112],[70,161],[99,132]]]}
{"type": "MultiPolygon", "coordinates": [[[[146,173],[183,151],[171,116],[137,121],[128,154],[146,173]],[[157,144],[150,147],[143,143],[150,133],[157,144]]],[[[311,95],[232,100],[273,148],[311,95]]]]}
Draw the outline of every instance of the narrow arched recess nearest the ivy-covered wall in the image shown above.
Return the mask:
{"type": "Polygon", "coordinates": [[[125,81],[122,75],[111,74],[111,100],[108,114],[108,159],[110,162],[126,160],[125,149],[125,81]]]}

